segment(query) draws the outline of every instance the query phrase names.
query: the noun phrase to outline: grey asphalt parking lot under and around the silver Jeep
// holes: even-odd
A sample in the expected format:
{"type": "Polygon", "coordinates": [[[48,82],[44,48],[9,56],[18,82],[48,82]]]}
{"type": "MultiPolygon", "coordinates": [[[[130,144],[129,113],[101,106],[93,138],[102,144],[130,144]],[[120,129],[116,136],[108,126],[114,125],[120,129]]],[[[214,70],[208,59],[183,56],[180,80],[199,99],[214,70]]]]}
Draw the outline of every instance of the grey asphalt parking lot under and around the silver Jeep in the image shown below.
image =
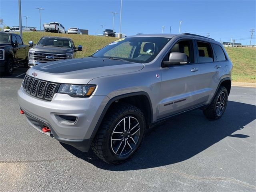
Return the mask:
{"type": "Polygon", "coordinates": [[[25,72],[0,78],[0,191],[256,190],[256,88],[232,87],[220,120],[200,110],[173,117],[132,159],[110,166],[28,124],[17,103],[25,72]]]}

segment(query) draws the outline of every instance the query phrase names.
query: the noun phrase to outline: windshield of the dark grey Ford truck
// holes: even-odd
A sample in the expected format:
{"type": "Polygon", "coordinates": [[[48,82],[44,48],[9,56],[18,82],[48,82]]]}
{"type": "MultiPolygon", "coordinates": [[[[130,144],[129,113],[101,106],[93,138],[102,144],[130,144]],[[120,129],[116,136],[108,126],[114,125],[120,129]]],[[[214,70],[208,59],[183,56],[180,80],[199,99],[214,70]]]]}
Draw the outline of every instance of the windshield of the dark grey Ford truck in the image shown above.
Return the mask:
{"type": "Polygon", "coordinates": [[[64,38],[43,37],[39,40],[37,45],[72,48],[70,40],[64,38]]]}

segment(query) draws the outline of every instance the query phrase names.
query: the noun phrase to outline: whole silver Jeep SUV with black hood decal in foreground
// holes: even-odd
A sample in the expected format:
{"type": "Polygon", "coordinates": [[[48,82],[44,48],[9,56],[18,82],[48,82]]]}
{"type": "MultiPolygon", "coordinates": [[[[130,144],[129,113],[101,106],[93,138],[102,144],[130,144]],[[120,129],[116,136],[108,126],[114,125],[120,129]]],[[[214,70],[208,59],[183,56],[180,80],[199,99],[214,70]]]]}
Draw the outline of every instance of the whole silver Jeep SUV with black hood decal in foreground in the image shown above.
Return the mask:
{"type": "Polygon", "coordinates": [[[134,154],[144,132],[176,114],[224,113],[232,63],[223,46],[194,34],[118,39],[88,58],[30,68],[18,102],[44,134],[109,164],[134,154]]]}

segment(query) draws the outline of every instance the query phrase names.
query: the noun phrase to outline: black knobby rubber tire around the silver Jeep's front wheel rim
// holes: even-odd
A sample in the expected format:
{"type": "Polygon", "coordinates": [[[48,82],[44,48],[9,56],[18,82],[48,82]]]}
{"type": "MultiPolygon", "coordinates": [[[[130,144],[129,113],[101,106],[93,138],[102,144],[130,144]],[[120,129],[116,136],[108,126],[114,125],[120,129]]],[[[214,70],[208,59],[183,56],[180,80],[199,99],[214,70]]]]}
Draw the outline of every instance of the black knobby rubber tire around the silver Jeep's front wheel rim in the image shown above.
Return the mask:
{"type": "Polygon", "coordinates": [[[145,118],[144,114],[139,108],[126,103],[116,104],[116,106],[112,107],[104,117],[104,120],[102,121],[102,124],[94,137],[94,140],[92,141],[92,150],[96,156],[98,156],[104,162],[108,164],[120,164],[129,159],[136,152],[136,150],[138,150],[144,137],[144,130],[145,118]],[[138,142],[135,144],[134,148],[128,154],[120,156],[115,154],[112,150],[111,137],[120,120],[128,116],[132,116],[138,120],[140,135],[138,136],[138,142]]]}

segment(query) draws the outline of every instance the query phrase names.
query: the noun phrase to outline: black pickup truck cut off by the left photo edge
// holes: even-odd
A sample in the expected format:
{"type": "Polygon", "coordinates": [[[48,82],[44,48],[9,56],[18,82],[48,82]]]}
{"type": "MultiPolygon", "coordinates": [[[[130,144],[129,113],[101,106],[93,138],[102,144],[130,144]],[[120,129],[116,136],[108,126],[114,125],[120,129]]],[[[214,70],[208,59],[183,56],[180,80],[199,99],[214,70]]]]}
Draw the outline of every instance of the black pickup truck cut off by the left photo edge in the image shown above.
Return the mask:
{"type": "Polygon", "coordinates": [[[28,67],[28,45],[24,45],[18,34],[0,32],[1,72],[10,76],[14,66],[24,64],[28,67]]]}

